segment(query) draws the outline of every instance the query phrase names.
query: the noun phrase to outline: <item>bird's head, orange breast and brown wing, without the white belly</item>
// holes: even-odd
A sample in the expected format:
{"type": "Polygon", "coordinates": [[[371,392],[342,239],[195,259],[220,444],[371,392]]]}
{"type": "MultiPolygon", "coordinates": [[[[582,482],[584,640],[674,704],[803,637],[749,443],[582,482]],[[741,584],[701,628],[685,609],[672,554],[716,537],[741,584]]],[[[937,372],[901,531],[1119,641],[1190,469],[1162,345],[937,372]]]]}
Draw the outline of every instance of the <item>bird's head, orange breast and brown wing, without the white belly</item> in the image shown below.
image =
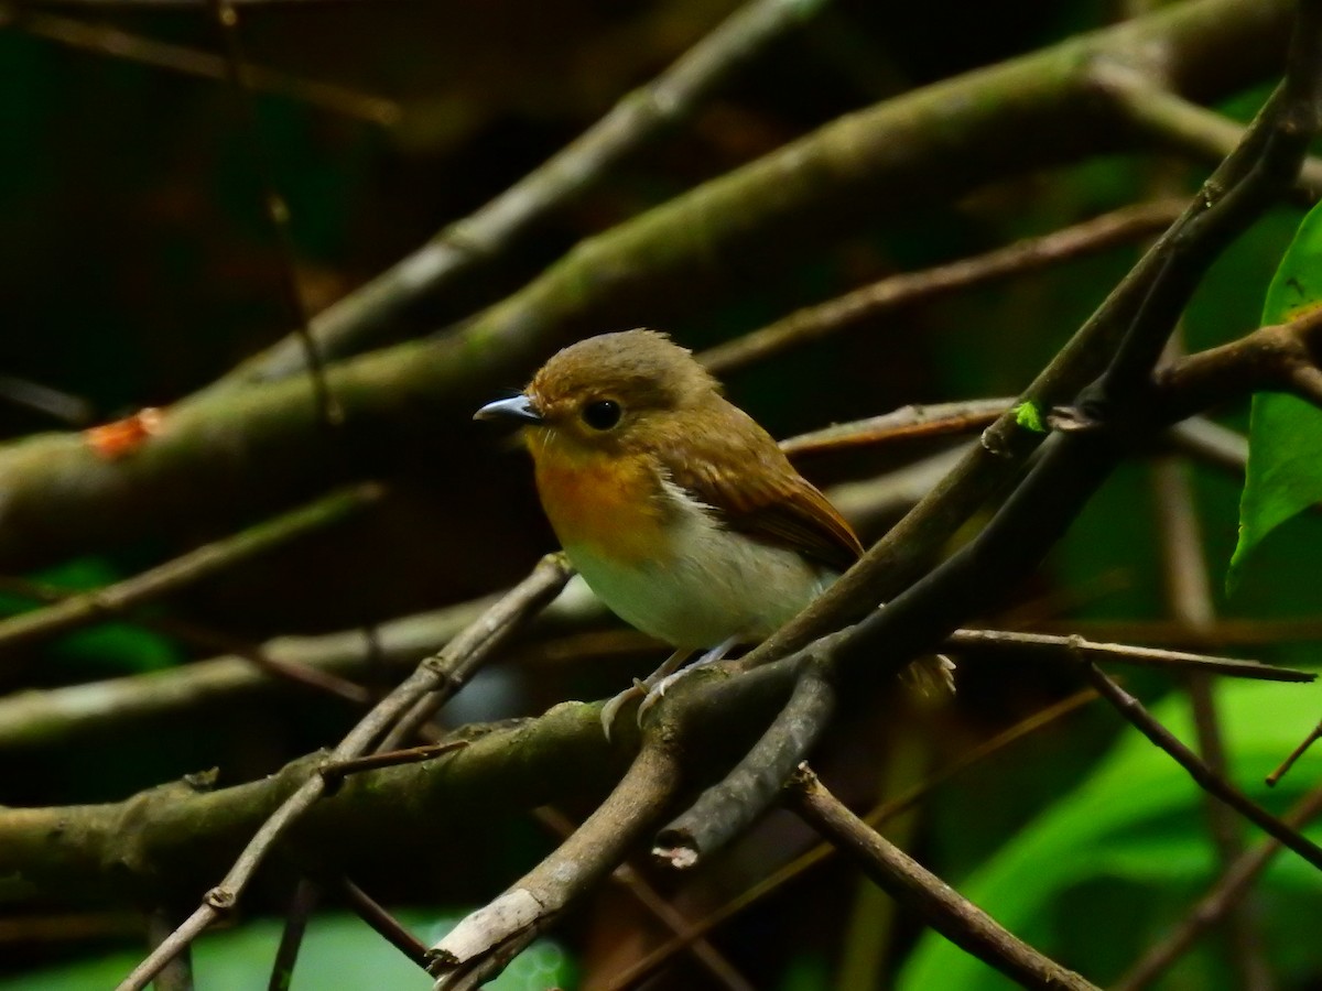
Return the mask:
{"type": "Polygon", "coordinates": [[[521,396],[483,407],[525,424],[537,488],[566,544],[662,558],[677,493],[726,530],[843,571],[854,531],[767,431],[656,330],[580,341],[521,396]]]}

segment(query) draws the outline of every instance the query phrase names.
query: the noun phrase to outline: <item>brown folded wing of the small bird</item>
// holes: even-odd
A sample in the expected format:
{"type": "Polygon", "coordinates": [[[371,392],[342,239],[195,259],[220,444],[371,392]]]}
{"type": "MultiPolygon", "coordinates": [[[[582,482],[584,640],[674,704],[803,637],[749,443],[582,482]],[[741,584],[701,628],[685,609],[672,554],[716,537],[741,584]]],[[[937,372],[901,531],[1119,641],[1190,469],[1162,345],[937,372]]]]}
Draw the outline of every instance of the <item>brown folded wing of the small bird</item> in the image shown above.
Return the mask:
{"type": "MultiPolygon", "coordinates": [[[[731,407],[735,408],[735,407],[731,407]]],[[[711,506],[731,530],[792,547],[837,571],[863,552],[858,536],[780,447],[742,411],[719,435],[693,431],[666,457],[672,481],[711,506]]],[[[726,422],[723,422],[726,425],[726,422]]]]}

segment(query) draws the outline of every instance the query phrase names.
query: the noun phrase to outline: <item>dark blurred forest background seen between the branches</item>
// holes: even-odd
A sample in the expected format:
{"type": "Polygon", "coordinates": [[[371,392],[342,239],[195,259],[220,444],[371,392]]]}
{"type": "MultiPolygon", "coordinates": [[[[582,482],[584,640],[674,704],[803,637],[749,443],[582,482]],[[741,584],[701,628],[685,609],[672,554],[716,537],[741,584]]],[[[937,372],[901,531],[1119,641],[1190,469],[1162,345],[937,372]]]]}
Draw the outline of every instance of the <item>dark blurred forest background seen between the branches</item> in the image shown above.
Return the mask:
{"type": "MultiPolygon", "coordinates": [[[[75,44],[87,25],[110,25],[215,52],[217,29],[204,12],[97,4],[8,8],[0,30],[7,81],[0,87],[0,374],[63,394],[61,408],[74,419],[61,422],[3,402],[0,431],[19,437],[168,406],[288,332],[256,144],[264,147],[290,205],[299,284],[305,305],[316,312],[534,169],[732,8],[724,0],[245,4],[247,59],[271,70],[286,90],[259,87],[255,135],[223,83],[75,44]],[[305,83],[325,86],[309,91],[305,83]],[[297,86],[304,87],[301,95],[287,92],[297,86]]],[[[518,287],[582,238],[851,108],[1118,15],[1110,4],[1050,0],[833,4],[767,52],[691,126],[555,211],[490,276],[418,308],[397,337],[447,326],[518,287]]],[[[1263,92],[1225,108],[1245,118],[1263,92]]],[[[887,272],[962,258],[1132,202],[1153,189],[1158,172],[1167,189],[1191,190],[1206,169],[1114,156],[1027,174],[920,217],[879,225],[760,280],[756,292],[666,329],[702,349],[887,272]]],[[[1191,346],[1256,324],[1263,289],[1300,215],[1277,210],[1219,266],[1190,314],[1191,346]]],[[[777,436],[911,402],[1014,394],[1133,258],[1134,250],[1109,251],[915,308],[863,333],[732,375],[728,391],[777,436]]],[[[650,322],[649,314],[639,313],[635,322],[650,322]]],[[[611,329],[620,328],[600,328],[611,329]]],[[[21,392],[21,386],[7,388],[21,392]]],[[[1243,411],[1228,416],[1243,425],[1243,411]]],[[[554,546],[527,465],[498,436],[467,422],[431,427],[440,439],[438,449],[395,466],[386,509],[206,581],[160,609],[263,640],[378,624],[516,580],[554,546]]],[[[932,449],[910,444],[878,455],[816,459],[808,470],[825,485],[932,449]]],[[[1237,482],[1199,469],[1195,486],[1208,560],[1219,568],[1233,546],[1237,482]]],[[[1021,589],[1017,621],[1105,622],[1117,630],[1121,621],[1133,626],[1165,616],[1150,490],[1147,465],[1126,466],[1043,575],[1021,589]]],[[[185,538],[163,536],[69,562],[40,577],[71,588],[97,585],[219,535],[200,526],[185,538]]],[[[1314,551],[1301,555],[1298,540],[1315,550],[1319,538],[1318,525],[1305,522],[1289,546],[1269,543],[1263,566],[1223,606],[1255,618],[1311,616],[1317,558],[1314,551]]],[[[1311,642],[1281,643],[1255,655],[1301,662],[1311,650],[1311,642]]],[[[116,624],[45,649],[49,663],[29,666],[25,684],[132,674],[194,655],[160,634],[116,624]]],[[[583,670],[542,657],[537,666],[506,670],[504,682],[493,682],[489,708],[479,707],[477,715],[533,714],[563,698],[611,694],[649,662],[603,662],[583,670]]],[[[1132,683],[1159,694],[1167,682],[1136,677],[1132,683]]],[[[921,706],[870,699],[845,712],[824,747],[824,773],[836,776],[842,794],[866,798],[884,790],[883,778],[919,776],[939,756],[1075,687],[1054,669],[970,663],[953,704],[920,712],[921,706]],[[882,711],[874,702],[890,708],[882,711]],[[929,739],[907,744],[916,747],[910,752],[898,741],[915,725],[929,739]],[[878,754],[887,753],[895,766],[878,762],[878,754]]],[[[223,781],[246,780],[332,741],[352,719],[342,704],[293,698],[300,704],[290,704],[286,692],[239,714],[143,727],[100,740],[112,747],[95,752],[79,743],[0,756],[7,782],[0,801],[120,798],[209,765],[221,765],[223,781]],[[160,745],[163,732],[169,747],[160,745]]],[[[1071,786],[1113,732],[1107,714],[1089,711],[1068,729],[1050,729],[1013,758],[999,758],[985,772],[990,784],[943,793],[920,850],[940,851],[953,876],[972,869],[1071,786]],[[965,828],[970,818],[978,821],[977,830],[965,828]]],[[[756,876],[763,869],[759,855],[776,848],[783,840],[777,830],[785,828],[773,823],[743,848],[742,862],[736,858],[734,868],[709,884],[735,891],[756,876]]],[[[506,883],[526,865],[529,850],[546,843],[531,827],[510,826],[508,832],[493,843],[504,860],[463,879],[459,887],[468,896],[481,897],[484,889],[506,883]]],[[[787,842],[801,844],[804,838],[796,832],[787,842]]],[[[842,922],[829,914],[813,918],[810,906],[828,900],[847,905],[841,891],[850,891],[850,877],[833,868],[775,910],[750,913],[734,926],[726,939],[742,959],[780,947],[754,965],[765,982],[759,986],[825,986],[795,984],[785,976],[795,963],[788,947],[802,943],[808,953],[832,945],[842,922]]],[[[714,897],[703,891],[695,901],[714,897]]],[[[609,926],[594,929],[594,918],[604,926],[602,918],[584,914],[587,920],[571,926],[575,938],[584,946],[609,942],[609,926]]],[[[899,933],[898,945],[915,936],[906,922],[899,933]]],[[[22,955],[62,953],[52,943],[29,946],[22,955]]]]}

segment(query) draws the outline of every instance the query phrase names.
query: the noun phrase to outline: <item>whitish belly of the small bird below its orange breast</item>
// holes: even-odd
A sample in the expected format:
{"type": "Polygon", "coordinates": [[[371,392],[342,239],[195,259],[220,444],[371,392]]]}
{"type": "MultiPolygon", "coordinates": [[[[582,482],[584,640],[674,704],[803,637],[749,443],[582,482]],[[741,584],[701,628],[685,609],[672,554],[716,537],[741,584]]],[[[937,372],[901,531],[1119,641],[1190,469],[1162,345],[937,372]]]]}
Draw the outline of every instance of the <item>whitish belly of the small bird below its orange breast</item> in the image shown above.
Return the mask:
{"type": "Polygon", "coordinates": [[[586,546],[564,547],[598,599],[644,633],[690,649],[760,641],[836,579],[795,551],[722,529],[686,502],[664,558],[620,566],[586,546]]]}

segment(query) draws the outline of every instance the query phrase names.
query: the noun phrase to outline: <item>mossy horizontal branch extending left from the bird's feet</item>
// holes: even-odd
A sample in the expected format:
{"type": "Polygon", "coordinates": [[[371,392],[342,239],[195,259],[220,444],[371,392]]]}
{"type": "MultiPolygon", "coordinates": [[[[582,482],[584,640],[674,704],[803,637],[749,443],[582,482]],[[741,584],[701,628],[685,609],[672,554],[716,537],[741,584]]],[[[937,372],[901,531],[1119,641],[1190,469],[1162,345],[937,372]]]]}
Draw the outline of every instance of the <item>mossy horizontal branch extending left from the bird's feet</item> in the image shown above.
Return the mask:
{"type": "MultiPolygon", "coordinates": [[[[469,745],[435,761],[350,777],[300,822],[300,863],[357,875],[362,855],[382,851],[389,827],[395,876],[408,877],[408,864],[424,859],[419,850],[475,817],[602,794],[620,757],[602,737],[598,710],[564,703],[538,719],[469,727],[469,745]]],[[[16,897],[53,905],[193,900],[286,799],[320,780],[325,760],[308,754],[217,790],[175,782],[110,805],[0,810],[0,868],[22,879],[16,897]]]]}

